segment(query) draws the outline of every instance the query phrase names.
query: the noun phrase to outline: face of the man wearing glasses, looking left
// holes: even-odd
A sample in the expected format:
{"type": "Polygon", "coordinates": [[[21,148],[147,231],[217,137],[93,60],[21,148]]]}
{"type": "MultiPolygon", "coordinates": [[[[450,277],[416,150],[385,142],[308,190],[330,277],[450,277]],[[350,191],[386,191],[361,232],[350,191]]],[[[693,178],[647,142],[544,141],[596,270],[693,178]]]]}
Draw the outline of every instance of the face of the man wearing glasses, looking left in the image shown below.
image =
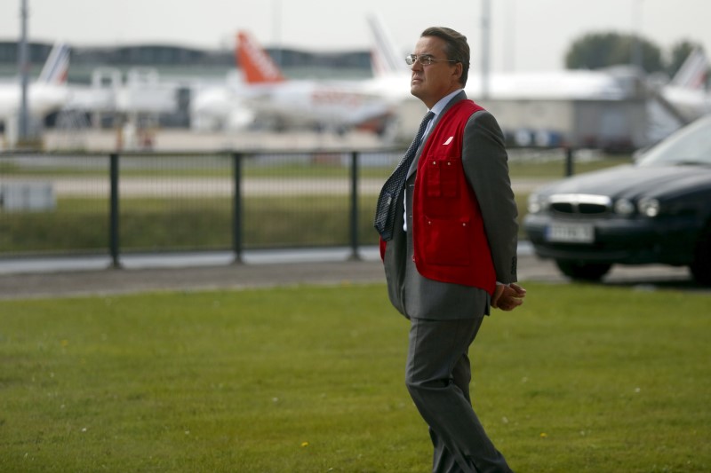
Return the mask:
{"type": "Polygon", "coordinates": [[[410,92],[422,100],[427,108],[432,108],[439,99],[461,87],[461,63],[441,60],[447,59],[445,45],[444,40],[436,36],[422,36],[412,52],[418,56],[428,55],[432,59],[440,59],[429,66],[422,66],[419,61],[411,66],[410,92]]]}

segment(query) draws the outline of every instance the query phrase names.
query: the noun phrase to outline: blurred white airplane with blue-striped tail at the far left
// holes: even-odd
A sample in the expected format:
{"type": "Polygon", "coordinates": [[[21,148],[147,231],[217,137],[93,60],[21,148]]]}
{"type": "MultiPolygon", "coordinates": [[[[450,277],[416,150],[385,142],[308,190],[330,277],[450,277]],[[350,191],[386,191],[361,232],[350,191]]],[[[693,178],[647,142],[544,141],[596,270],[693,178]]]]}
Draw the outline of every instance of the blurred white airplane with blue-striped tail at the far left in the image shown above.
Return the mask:
{"type": "MultiPolygon", "coordinates": [[[[56,43],[36,81],[28,84],[28,113],[38,122],[60,110],[68,99],[69,47],[56,43]]],[[[7,126],[20,113],[22,90],[19,82],[0,83],[0,122],[7,126]]]]}

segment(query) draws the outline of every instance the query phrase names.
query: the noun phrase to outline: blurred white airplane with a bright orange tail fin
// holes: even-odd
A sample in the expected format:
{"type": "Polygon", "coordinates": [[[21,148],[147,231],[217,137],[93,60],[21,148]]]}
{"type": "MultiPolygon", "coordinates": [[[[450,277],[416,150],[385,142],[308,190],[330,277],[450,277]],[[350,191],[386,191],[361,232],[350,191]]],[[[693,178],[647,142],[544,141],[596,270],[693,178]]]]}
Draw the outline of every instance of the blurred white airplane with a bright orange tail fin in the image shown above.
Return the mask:
{"type": "Polygon", "coordinates": [[[389,107],[363,81],[288,80],[259,43],[237,35],[240,85],[197,94],[191,105],[198,128],[240,129],[254,122],[276,129],[378,129],[389,107]]]}

